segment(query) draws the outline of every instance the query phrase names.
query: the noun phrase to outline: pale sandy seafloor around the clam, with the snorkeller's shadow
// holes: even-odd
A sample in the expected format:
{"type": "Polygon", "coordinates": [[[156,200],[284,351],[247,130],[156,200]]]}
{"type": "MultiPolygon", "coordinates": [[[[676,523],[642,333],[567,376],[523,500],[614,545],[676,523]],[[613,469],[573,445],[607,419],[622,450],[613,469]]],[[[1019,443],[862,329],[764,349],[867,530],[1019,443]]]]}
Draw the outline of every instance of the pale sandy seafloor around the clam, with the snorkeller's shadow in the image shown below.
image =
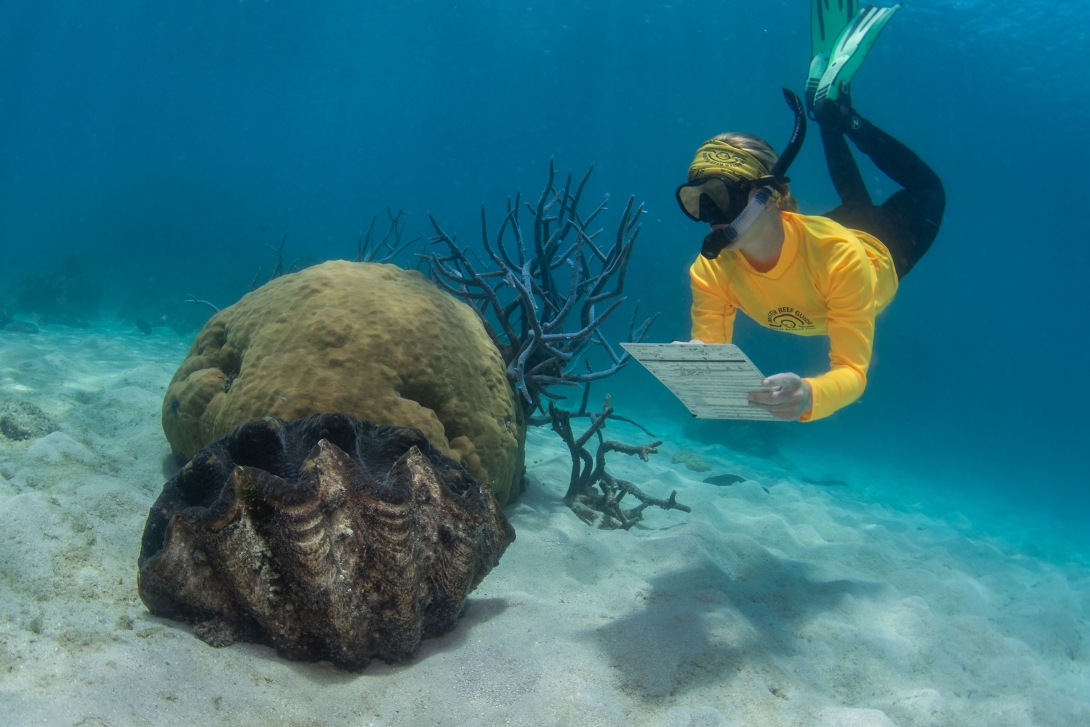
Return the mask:
{"type": "Polygon", "coordinates": [[[213,649],[136,594],[144,520],[173,469],[160,402],[187,347],[106,324],[0,331],[0,399],[59,426],[0,437],[0,724],[1090,725],[1085,560],[1027,553],[960,512],[883,506],[863,471],[807,485],[806,463],[669,424],[650,463],[611,469],[693,511],[650,510],[630,532],[564,507],[567,450],[532,429],[532,486],[507,509],[518,540],[411,663],[351,674],[213,649]],[[681,448],[751,481],[703,484],[671,464],[681,448]]]}

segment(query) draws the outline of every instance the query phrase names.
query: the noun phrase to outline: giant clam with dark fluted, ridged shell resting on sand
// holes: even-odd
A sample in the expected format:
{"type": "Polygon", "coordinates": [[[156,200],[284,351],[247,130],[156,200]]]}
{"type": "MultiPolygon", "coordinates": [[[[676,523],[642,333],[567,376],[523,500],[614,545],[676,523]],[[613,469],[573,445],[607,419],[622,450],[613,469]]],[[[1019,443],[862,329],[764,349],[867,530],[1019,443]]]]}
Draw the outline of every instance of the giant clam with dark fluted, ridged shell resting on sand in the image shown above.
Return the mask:
{"type": "Polygon", "coordinates": [[[360,668],[453,628],[513,540],[488,488],[416,429],[266,419],[166,484],[137,582],[156,616],[360,668]]]}

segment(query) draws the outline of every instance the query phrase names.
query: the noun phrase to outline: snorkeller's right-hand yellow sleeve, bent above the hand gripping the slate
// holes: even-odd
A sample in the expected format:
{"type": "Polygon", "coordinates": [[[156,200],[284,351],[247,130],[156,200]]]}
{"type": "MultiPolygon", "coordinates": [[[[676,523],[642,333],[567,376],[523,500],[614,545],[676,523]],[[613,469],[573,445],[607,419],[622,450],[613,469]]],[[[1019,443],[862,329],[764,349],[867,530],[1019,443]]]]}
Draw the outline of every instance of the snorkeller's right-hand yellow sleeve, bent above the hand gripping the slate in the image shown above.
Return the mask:
{"type": "Polygon", "coordinates": [[[813,407],[800,422],[828,416],[867,388],[874,346],[874,279],[865,255],[848,255],[829,270],[825,304],[829,371],[806,379],[813,407]]]}

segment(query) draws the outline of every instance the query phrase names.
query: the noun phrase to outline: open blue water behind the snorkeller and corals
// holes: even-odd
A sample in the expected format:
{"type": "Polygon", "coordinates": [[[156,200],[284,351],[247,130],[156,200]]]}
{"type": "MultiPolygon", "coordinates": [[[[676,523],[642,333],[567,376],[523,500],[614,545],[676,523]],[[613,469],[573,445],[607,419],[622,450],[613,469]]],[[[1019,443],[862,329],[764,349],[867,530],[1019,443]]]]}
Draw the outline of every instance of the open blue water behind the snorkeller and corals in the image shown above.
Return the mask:
{"type": "MultiPolygon", "coordinates": [[[[923,0],[892,22],[856,102],[940,172],[946,220],[880,319],[862,402],[796,427],[1074,530],[1090,505],[1087,27],[1083,2],[923,0]]],[[[555,157],[595,162],[615,214],[646,202],[629,291],[663,312],[653,340],[687,338],[703,231],[673,191],[715,133],[782,145],[778,88],[801,90],[808,62],[803,0],[11,0],[0,290],[74,251],[104,316],[136,289],[226,304],[270,270],[266,244],[351,257],[387,205],[411,234],[431,211],[475,241],[480,204],[536,194],[555,157]]],[[[792,177],[803,211],[835,206],[816,133],[792,177]]],[[[768,373],[825,365],[824,339],[741,326],[738,342],[768,373]]],[[[685,415],[625,376],[602,388],[621,407],[685,415]]]]}

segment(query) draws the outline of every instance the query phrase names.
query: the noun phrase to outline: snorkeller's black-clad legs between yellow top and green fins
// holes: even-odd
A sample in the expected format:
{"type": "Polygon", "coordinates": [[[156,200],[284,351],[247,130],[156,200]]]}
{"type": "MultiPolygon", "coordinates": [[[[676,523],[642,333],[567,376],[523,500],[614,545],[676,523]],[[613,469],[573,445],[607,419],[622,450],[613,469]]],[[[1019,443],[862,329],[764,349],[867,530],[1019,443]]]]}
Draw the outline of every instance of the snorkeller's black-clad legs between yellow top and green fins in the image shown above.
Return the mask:
{"type": "Polygon", "coordinates": [[[881,240],[893,256],[897,277],[904,278],[935,241],[946,193],[938,175],[910,148],[870,121],[859,121],[859,129],[848,129],[847,136],[886,177],[905,189],[881,206],[875,205],[844,134],[822,126],[828,173],[843,203],[825,217],[881,240]]]}

